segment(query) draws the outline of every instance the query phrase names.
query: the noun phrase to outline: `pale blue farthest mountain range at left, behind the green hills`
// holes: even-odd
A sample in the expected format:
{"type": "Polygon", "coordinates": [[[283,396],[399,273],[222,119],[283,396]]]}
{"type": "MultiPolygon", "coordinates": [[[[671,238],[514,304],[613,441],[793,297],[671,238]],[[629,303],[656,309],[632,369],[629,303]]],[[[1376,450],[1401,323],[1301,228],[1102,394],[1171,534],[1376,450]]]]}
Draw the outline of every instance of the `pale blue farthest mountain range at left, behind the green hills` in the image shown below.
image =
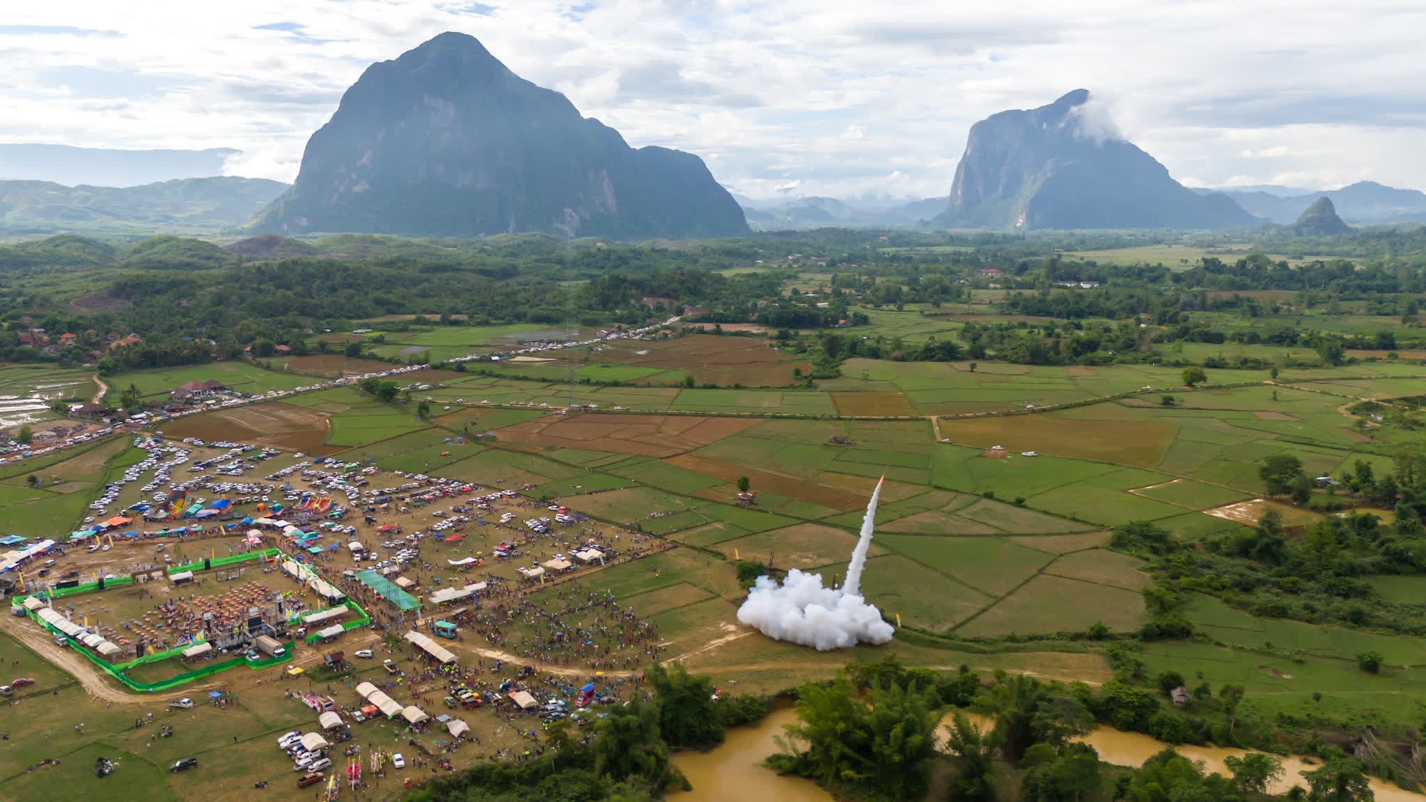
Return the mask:
{"type": "Polygon", "coordinates": [[[67,187],[137,187],[174,178],[221,176],[222,166],[241,151],[113,150],[64,144],[0,144],[0,180],[54,181],[67,187]]]}

